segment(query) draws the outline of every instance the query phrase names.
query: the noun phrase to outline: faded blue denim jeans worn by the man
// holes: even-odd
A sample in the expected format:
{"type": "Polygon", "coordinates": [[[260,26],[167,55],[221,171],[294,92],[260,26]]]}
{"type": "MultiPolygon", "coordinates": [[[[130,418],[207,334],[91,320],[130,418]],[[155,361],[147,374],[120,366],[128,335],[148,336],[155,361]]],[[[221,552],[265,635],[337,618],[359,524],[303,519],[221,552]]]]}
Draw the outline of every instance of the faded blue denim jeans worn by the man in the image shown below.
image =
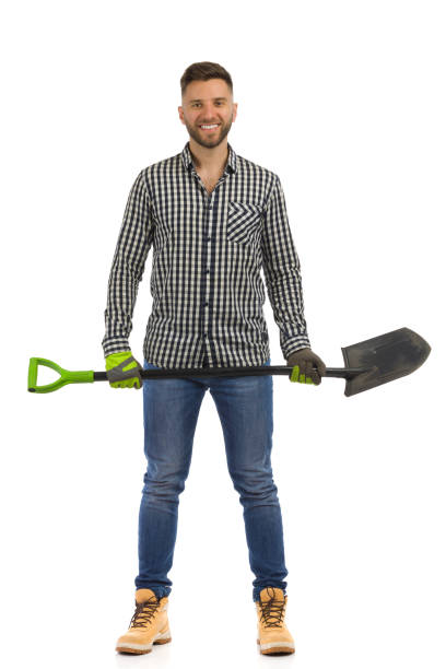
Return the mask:
{"type": "MultiPolygon", "coordinates": [[[[267,365],[270,364],[268,360],[267,365]]],[[[156,369],[144,360],[145,369],[156,369]]],[[[198,413],[210,390],[226,449],[226,461],[244,508],[249,564],[256,576],[253,600],[267,586],[285,592],[282,515],[272,479],[272,376],[189,377],[143,382],[144,454],[148,469],[139,514],[138,588],[157,597],[171,592],[178,495],[185,489],[198,413]]]]}

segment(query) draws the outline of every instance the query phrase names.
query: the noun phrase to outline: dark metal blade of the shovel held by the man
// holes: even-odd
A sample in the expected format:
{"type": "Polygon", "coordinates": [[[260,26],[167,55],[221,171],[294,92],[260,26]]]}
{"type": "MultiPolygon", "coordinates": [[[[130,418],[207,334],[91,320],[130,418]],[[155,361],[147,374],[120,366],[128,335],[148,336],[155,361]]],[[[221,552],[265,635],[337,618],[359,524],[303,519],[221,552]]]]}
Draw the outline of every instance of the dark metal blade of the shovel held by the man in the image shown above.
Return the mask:
{"type": "Polygon", "coordinates": [[[429,343],[409,328],[342,348],[345,367],[364,367],[366,372],[350,378],[345,395],[356,395],[388,384],[418,369],[431,352],[429,343]]]}

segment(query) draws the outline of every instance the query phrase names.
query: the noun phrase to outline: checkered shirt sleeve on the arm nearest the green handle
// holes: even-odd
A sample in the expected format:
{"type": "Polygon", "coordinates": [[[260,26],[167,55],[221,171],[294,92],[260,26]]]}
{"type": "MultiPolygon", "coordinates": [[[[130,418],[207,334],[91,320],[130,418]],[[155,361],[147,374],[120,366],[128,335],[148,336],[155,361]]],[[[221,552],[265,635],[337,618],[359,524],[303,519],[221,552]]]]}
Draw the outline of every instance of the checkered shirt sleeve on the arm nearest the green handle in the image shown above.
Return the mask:
{"type": "Polygon", "coordinates": [[[152,242],[152,204],[142,171],[130,190],[108,279],[102,341],[105,357],[110,353],[130,351],[134,303],[152,242]]]}

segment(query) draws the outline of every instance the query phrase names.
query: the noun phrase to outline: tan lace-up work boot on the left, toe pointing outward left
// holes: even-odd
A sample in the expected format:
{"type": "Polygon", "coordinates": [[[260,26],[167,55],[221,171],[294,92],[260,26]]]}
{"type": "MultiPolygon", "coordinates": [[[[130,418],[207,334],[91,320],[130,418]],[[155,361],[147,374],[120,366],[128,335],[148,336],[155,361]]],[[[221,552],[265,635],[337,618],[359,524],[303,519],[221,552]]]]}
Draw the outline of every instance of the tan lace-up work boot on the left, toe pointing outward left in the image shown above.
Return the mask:
{"type": "Polygon", "coordinates": [[[140,588],[134,596],[136,611],[126,634],[117,641],[118,653],[150,653],[153,644],[172,641],[167,620],[167,597],[157,599],[153,590],[140,588]]]}

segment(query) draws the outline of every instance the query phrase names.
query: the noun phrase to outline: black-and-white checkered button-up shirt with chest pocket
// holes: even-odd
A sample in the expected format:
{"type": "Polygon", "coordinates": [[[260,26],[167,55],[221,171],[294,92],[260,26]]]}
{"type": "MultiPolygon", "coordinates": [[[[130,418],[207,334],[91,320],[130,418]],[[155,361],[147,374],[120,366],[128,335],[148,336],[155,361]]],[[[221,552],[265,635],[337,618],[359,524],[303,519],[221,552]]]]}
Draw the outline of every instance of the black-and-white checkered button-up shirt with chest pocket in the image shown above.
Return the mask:
{"type": "Polygon", "coordinates": [[[230,144],[211,193],[189,142],[138,175],[108,281],[105,356],[130,350],[138,285],[152,246],[148,362],[164,368],[265,364],[270,351],[261,269],[283,356],[310,345],[279,177],[230,144]]]}

